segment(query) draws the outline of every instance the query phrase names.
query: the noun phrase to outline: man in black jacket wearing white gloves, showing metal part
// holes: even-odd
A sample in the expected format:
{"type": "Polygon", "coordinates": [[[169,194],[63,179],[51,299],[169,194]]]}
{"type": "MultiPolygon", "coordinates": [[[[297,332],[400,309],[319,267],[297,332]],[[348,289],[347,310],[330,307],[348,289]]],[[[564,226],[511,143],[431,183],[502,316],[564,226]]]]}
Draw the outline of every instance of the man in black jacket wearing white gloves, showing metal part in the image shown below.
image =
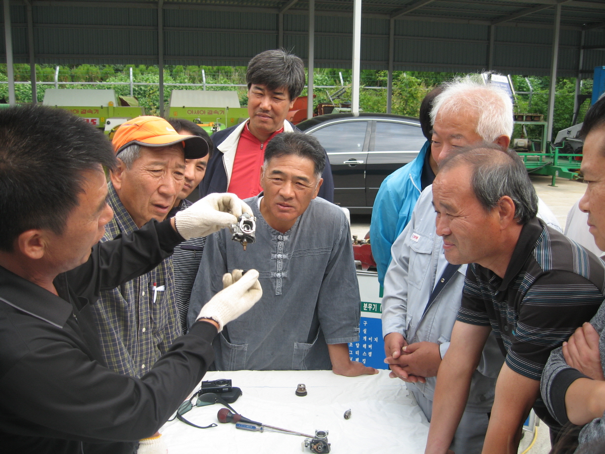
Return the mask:
{"type": "Polygon", "coordinates": [[[233,195],[213,194],[100,244],[113,216],[102,166],[115,165],[110,142],[67,111],[0,112],[3,452],[136,452],[137,440],[157,432],[203,377],[212,338],[262,294],[258,272],[225,275],[212,308],[143,377],[106,368],[91,318],[99,292],[249,211],[233,195]]]}

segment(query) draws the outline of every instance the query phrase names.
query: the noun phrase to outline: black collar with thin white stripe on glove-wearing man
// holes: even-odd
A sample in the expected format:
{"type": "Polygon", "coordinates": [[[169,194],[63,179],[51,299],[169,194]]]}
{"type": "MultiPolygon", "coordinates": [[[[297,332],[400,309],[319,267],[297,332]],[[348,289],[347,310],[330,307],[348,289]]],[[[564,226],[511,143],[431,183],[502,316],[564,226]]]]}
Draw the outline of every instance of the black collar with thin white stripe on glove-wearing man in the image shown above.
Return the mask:
{"type": "MultiPolygon", "coordinates": [[[[57,276],[56,281],[61,279],[65,279],[64,274],[57,276]]],[[[56,286],[57,291],[64,287],[56,286]]],[[[69,299],[68,294],[64,296],[69,299]]],[[[64,298],[57,297],[2,266],[0,266],[0,298],[4,300],[3,303],[57,327],[63,327],[73,311],[71,304],[64,298]]]]}

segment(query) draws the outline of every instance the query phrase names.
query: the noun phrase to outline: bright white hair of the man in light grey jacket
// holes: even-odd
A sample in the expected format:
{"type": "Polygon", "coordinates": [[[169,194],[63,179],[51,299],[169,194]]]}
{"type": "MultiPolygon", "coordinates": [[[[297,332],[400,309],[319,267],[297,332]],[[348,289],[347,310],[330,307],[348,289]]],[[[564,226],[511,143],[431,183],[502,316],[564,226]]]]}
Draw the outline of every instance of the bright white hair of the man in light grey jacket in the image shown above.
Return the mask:
{"type": "Polygon", "coordinates": [[[445,90],[433,101],[432,124],[439,112],[456,115],[471,110],[479,116],[475,131],[485,142],[494,142],[500,136],[512,136],[512,101],[504,90],[493,84],[484,84],[480,74],[458,77],[443,86],[445,90]]]}

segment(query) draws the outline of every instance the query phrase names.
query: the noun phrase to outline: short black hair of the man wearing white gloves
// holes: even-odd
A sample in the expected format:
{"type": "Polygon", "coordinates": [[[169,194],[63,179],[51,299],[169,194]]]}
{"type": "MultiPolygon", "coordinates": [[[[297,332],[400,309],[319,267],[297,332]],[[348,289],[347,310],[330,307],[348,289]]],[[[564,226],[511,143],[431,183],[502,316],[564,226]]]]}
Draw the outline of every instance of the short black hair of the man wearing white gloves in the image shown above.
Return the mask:
{"type": "Polygon", "coordinates": [[[55,107],[0,110],[0,249],[30,229],[63,233],[82,173],[116,166],[113,146],[85,120],[55,107]]]}

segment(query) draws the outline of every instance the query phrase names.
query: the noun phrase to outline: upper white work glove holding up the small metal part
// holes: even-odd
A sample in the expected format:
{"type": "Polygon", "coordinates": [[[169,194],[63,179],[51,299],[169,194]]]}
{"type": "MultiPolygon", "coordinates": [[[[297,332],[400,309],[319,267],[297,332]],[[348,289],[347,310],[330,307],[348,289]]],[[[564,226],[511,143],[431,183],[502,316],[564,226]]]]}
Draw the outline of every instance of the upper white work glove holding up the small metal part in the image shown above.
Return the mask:
{"type": "Polygon", "coordinates": [[[177,212],[174,225],[186,240],[206,237],[212,232],[237,223],[242,212],[254,214],[235,194],[209,194],[189,208],[177,212]]]}

